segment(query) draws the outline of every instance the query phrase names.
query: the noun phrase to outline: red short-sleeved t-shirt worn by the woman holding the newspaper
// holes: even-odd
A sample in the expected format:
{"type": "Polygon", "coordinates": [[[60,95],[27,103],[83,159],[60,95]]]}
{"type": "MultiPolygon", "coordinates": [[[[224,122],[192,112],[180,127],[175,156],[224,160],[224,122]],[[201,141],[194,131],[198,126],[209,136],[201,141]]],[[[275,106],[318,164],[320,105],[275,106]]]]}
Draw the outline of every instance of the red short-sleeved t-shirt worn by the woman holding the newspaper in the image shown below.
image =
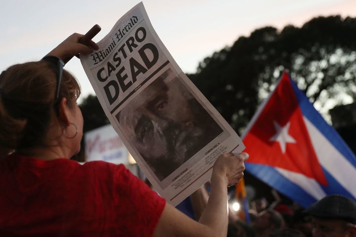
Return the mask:
{"type": "Polygon", "coordinates": [[[0,160],[0,236],[152,236],[165,203],[124,165],[0,160]]]}

